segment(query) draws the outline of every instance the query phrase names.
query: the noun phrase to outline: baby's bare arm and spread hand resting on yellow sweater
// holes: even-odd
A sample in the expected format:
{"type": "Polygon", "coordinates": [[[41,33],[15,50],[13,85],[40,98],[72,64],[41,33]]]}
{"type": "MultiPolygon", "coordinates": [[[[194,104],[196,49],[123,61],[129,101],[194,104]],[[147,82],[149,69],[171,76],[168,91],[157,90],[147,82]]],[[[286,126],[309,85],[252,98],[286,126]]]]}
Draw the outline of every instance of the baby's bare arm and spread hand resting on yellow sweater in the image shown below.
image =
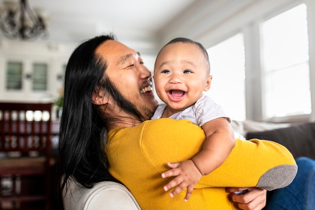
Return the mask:
{"type": "Polygon", "coordinates": [[[168,166],[172,169],[162,174],[164,178],[176,176],[164,187],[167,191],[177,186],[170,193],[171,197],[187,187],[185,200],[188,200],[201,175],[209,174],[219,167],[235,146],[233,130],[225,118],[217,118],[206,122],[202,128],[206,134],[203,150],[192,160],[168,163],[168,166]]]}

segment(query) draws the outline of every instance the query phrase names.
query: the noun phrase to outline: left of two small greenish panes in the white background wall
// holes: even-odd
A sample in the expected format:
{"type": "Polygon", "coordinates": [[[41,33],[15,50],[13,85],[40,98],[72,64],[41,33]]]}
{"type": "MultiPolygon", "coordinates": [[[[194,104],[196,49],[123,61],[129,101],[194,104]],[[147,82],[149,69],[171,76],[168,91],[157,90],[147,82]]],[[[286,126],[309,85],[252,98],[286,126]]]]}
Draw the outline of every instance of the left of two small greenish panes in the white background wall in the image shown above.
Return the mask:
{"type": "Polygon", "coordinates": [[[22,62],[7,63],[7,90],[22,90],[22,62]]]}

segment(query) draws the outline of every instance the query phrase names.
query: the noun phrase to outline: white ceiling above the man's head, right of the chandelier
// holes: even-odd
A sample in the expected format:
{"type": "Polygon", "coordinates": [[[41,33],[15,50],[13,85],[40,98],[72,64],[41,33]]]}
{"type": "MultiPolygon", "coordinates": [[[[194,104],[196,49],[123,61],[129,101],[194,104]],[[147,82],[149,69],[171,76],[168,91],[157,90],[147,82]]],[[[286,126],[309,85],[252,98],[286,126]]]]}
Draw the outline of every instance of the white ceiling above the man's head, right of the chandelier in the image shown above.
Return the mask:
{"type": "Polygon", "coordinates": [[[28,4],[48,13],[50,41],[78,42],[110,32],[119,39],[157,38],[163,27],[197,1],[28,0],[28,4]]]}

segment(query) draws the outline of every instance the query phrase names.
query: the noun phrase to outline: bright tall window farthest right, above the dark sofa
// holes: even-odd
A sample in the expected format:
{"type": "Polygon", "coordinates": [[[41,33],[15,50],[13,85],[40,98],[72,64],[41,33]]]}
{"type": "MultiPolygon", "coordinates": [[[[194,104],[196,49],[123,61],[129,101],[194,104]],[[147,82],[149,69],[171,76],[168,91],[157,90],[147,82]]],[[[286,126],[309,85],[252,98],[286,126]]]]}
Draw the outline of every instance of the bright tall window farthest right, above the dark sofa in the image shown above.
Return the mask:
{"type": "Polygon", "coordinates": [[[310,114],[306,6],[265,21],[261,32],[264,117],[310,114]]]}

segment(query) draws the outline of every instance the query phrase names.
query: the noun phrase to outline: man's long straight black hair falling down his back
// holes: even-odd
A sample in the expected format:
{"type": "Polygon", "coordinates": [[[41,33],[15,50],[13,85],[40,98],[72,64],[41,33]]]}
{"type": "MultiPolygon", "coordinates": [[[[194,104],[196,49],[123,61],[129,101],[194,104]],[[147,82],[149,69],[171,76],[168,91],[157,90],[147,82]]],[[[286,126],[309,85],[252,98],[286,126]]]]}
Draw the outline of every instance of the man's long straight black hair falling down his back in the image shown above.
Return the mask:
{"type": "Polygon", "coordinates": [[[111,116],[100,113],[98,105],[92,103],[94,91],[106,91],[122,110],[144,121],[104,74],[108,64],[96,49],[107,40],[115,40],[115,36],[101,35],[83,42],[66,66],[56,180],[59,200],[69,179],[87,188],[101,181],[118,182],[108,172],[101,137],[111,116]]]}

